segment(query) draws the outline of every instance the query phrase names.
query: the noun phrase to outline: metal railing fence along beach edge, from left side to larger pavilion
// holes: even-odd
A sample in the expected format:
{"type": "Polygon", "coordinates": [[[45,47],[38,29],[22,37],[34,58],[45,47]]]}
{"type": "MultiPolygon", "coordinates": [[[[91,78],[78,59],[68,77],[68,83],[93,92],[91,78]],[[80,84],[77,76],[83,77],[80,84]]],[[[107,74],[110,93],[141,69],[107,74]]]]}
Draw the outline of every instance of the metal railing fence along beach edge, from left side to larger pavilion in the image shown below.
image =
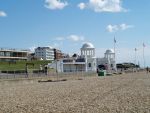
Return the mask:
{"type": "Polygon", "coordinates": [[[29,71],[29,72],[24,72],[24,71],[0,71],[0,79],[15,79],[15,78],[34,78],[34,77],[53,77],[53,78],[62,78],[62,77],[85,77],[85,76],[92,76],[96,75],[96,72],[85,72],[85,71],[73,71],[73,72],[62,72],[62,73],[57,73],[54,71],[29,71]]]}

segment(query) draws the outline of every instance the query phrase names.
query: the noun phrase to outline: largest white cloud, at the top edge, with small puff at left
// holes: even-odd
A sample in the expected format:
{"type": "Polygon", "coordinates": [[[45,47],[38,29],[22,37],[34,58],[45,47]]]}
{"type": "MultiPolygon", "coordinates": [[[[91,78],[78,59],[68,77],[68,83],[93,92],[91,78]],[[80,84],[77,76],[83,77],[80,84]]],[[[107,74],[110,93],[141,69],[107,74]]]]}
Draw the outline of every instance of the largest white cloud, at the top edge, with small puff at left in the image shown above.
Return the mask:
{"type": "Polygon", "coordinates": [[[89,0],[88,3],[80,3],[80,9],[89,8],[95,12],[126,12],[121,0],[89,0]]]}

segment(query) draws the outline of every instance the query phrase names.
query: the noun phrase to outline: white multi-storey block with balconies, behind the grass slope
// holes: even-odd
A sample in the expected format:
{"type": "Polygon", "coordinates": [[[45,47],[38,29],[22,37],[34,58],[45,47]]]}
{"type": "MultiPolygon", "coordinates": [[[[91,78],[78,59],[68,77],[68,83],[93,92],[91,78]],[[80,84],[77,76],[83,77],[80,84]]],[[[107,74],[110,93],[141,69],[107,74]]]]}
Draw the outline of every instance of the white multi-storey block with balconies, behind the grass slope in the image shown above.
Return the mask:
{"type": "Polygon", "coordinates": [[[42,60],[54,60],[54,49],[51,47],[37,47],[35,57],[42,60]]]}

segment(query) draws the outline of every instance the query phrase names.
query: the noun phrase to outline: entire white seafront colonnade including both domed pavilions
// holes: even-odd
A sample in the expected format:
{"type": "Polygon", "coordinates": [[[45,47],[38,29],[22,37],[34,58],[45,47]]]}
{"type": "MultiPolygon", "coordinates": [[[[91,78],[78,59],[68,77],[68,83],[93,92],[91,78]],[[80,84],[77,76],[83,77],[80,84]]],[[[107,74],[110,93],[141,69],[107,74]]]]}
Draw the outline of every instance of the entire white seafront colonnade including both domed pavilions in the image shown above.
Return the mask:
{"type": "Polygon", "coordinates": [[[103,65],[106,70],[116,70],[115,52],[108,49],[103,58],[96,58],[95,47],[91,43],[84,43],[80,49],[81,54],[75,57],[62,58],[48,64],[57,72],[96,72],[98,67],[103,65]]]}

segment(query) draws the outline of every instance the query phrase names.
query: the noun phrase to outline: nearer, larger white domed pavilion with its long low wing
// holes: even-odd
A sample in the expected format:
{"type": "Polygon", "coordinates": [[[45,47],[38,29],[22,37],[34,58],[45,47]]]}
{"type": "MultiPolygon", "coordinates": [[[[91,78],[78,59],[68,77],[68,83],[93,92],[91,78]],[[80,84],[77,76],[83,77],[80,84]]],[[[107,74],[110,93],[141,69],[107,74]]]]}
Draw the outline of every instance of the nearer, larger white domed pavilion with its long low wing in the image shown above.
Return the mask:
{"type": "Polygon", "coordinates": [[[95,48],[91,43],[85,43],[80,56],[61,59],[49,64],[49,67],[57,69],[58,72],[96,72],[95,48]]]}

